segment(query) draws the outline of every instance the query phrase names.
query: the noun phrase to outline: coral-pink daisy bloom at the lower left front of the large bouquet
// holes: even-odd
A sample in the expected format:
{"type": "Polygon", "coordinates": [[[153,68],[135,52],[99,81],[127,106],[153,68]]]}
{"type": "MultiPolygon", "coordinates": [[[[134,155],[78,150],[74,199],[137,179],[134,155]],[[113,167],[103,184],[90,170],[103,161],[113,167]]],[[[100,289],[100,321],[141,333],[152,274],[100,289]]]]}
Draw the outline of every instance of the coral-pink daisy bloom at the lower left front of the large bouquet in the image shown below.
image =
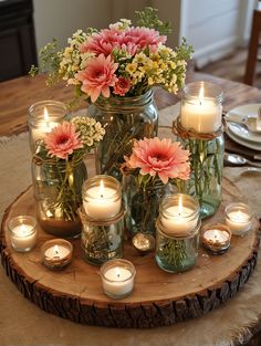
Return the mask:
{"type": "Polygon", "coordinates": [[[117,77],[114,74],[118,64],[114,63],[109,55],[104,54],[88,60],[84,71],[80,71],[75,77],[82,82],[81,90],[91,96],[92,102],[95,102],[100,94],[104,97],[109,97],[109,86],[114,86],[117,77]]]}

